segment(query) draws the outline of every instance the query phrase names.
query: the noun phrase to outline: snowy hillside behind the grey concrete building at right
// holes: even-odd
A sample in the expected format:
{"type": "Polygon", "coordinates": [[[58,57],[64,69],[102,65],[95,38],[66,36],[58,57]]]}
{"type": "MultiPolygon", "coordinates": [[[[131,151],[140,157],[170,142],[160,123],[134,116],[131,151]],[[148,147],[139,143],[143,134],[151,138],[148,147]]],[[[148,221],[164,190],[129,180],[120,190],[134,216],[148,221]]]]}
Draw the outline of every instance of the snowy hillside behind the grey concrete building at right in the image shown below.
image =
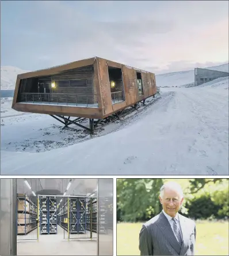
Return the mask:
{"type": "MultiPolygon", "coordinates": [[[[206,69],[212,69],[212,70],[223,71],[223,72],[229,71],[228,63],[219,65],[219,66],[206,67],[206,69]]],[[[184,86],[186,84],[193,84],[194,69],[188,70],[188,71],[159,74],[156,76],[156,82],[157,82],[157,86],[161,86],[161,87],[184,86]]]]}

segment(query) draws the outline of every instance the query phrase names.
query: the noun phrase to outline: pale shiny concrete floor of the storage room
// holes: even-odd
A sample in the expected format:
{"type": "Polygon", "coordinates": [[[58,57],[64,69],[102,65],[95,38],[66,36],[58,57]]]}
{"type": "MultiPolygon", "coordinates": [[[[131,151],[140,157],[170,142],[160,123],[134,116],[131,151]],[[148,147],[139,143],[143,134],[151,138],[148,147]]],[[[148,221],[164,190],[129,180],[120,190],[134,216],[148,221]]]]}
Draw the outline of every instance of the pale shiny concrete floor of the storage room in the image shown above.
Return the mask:
{"type": "MultiPolygon", "coordinates": [[[[36,239],[37,229],[30,232],[27,239],[36,239]]],[[[39,242],[36,240],[22,240],[26,236],[17,236],[17,255],[97,255],[97,241],[74,240],[69,242],[64,239],[67,232],[58,225],[58,234],[39,235],[39,242]]],[[[95,235],[93,235],[94,237],[95,235]]]]}

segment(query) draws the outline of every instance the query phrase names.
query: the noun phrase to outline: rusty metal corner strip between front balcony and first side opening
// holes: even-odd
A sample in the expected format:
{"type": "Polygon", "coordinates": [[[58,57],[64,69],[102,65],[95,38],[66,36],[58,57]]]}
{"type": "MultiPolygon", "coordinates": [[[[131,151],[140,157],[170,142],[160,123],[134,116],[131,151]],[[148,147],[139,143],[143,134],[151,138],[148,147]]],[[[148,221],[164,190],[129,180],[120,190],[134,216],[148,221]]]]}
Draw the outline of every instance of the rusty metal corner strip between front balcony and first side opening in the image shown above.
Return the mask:
{"type": "Polygon", "coordinates": [[[100,81],[100,93],[102,99],[102,108],[104,114],[112,112],[112,100],[110,95],[110,82],[108,75],[108,66],[106,65],[106,59],[98,58],[98,78],[100,81]]]}

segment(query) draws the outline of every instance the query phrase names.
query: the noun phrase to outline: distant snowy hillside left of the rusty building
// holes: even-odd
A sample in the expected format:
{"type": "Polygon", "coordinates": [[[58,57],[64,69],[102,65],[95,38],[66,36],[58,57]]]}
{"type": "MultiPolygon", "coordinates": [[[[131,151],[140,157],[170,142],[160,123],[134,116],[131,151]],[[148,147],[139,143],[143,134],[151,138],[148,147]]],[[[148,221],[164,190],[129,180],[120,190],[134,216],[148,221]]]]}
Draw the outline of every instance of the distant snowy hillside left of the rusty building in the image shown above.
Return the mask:
{"type": "Polygon", "coordinates": [[[17,75],[29,72],[18,67],[1,66],[1,90],[14,90],[17,75]]]}

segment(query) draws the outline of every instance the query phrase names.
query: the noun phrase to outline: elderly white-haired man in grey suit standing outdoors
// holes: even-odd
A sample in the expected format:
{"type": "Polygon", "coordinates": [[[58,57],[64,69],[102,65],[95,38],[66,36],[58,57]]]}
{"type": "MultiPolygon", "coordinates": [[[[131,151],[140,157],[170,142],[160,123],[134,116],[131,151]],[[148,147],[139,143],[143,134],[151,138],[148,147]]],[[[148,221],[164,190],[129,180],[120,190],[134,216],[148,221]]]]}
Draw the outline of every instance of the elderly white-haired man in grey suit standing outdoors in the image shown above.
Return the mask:
{"type": "Polygon", "coordinates": [[[159,199],[162,212],[147,221],[139,234],[141,255],[194,255],[196,224],[178,213],[184,200],[181,186],[166,183],[159,199]]]}

